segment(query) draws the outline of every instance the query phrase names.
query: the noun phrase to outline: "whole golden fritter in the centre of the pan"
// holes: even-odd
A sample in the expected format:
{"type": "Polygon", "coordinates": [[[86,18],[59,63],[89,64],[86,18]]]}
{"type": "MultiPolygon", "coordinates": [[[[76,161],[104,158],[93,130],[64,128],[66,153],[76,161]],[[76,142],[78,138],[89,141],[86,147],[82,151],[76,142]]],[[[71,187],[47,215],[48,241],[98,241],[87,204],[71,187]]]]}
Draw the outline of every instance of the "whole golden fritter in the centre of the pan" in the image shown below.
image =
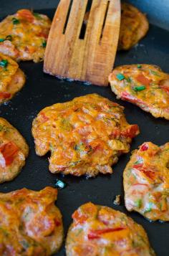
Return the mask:
{"type": "Polygon", "coordinates": [[[120,105],[97,94],[44,108],[32,127],[37,155],[51,151],[49,170],[75,176],[111,174],[138,133],[120,105]]]}

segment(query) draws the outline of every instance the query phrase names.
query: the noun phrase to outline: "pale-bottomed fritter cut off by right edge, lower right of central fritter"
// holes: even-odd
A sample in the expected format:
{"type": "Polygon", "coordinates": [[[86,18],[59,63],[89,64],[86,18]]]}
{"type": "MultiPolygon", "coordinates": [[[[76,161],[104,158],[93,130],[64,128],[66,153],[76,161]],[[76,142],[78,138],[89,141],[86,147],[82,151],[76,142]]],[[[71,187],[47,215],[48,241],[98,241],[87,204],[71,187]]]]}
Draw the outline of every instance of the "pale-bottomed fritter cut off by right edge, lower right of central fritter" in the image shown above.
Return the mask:
{"type": "Polygon", "coordinates": [[[169,143],[145,142],[124,171],[125,206],[150,220],[169,220],[169,143]]]}

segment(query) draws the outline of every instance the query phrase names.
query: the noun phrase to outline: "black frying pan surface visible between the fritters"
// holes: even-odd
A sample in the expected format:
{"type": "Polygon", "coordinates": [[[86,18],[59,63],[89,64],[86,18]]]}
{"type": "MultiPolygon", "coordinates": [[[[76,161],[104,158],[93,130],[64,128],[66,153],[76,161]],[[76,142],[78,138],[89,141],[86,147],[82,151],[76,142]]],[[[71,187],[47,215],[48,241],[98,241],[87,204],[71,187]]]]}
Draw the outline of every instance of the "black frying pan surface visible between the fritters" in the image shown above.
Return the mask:
{"type": "MultiPolygon", "coordinates": [[[[50,18],[54,15],[55,8],[59,1],[22,1],[22,0],[1,0],[0,17],[4,18],[6,14],[11,14],[17,9],[32,8],[50,18]]],[[[139,4],[140,1],[132,1],[139,4]]],[[[148,6],[150,1],[141,1],[142,6],[148,6]]],[[[165,9],[169,6],[166,1],[154,1],[158,4],[165,4],[165,9]]],[[[154,21],[154,9],[150,9],[150,20],[154,21]]],[[[160,13],[159,7],[159,16],[160,13]]],[[[158,20],[161,27],[167,27],[169,19],[164,15],[165,20],[158,20]]],[[[156,21],[157,22],[157,21],[156,21]]],[[[159,65],[165,72],[169,72],[169,32],[154,24],[150,24],[148,35],[141,40],[136,47],[127,52],[118,52],[115,62],[117,65],[148,63],[159,65]]],[[[124,191],[122,186],[122,172],[130,153],[144,141],[152,141],[158,145],[163,145],[169,141],[169,123],[162,118],[155,119],[149,113],[143,112],[131,103],[122,100],[116,100],[115,95],[111,92],[110,87],[98,87],[95,85],[84,85],[81,82],[69,82],[59,80],[55,77],[46,75],[42,71],[43,63],[34,64],[33,62],[21,62],[21,69],[26,74],[26,85],[21,92],[9,101],[6,105],[0,106],[0,115],[14,125],[26,138],[29,143],[29,157],[26,160],[26,166],[22,169],[21,174],[14,181],[0,185],[1,192],[14,191],[16,189],[39,190],[45,186],[54,186],[56,179],[62,179],[67,183],[67,188],[59,191],[57,206],[62,211],[64,220],[64,234],[67,233],[69,224],[72,222],[71,215],[77,207],[86,202],[107,205],[114,209],[125,212],[132,217],[135,222],[142,224],[150,243],[158,256],[169,255],[169,224],[160,222],[148,222],[140,214],[135,212],[129,213],[125,209],[123,200],[124,191]],[[99,175],[95,179],[86,179],[85,177],[54,175],[48,171],[48,155],[39,157],[34,151],[34,141],[31,134],[32,120],[42,108],[54,103],[62,103],[72,100],[74,97],[86,95],[88,93],[98,93],[105,98],[120,103],[125,107],[125,115],[129,123],[137,123],[140,127],[140,135],[132,141],[131,151],[127,155],[120,157],[118,163],[113,167],[112,175],[99,175]],[[122,202],[120,206],[115,206],[113,200],[120,194],[122,202]]],[[[57,253],[58,256],[65,255],[64,245],[57,253]]]]}

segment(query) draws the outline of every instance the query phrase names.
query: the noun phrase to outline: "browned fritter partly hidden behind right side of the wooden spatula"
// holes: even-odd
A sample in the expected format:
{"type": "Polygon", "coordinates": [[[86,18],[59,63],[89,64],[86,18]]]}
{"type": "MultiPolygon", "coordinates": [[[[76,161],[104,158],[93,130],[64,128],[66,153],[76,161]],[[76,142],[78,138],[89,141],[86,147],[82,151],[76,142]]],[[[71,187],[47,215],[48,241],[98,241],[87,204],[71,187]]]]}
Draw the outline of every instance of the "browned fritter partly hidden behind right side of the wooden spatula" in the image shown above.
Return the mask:
{"type": "Polygon", "coordinates": [[[131,4],[122,3],[121,25],[118,49],[130,49],[147,34],[148,19],[131,4]]]}

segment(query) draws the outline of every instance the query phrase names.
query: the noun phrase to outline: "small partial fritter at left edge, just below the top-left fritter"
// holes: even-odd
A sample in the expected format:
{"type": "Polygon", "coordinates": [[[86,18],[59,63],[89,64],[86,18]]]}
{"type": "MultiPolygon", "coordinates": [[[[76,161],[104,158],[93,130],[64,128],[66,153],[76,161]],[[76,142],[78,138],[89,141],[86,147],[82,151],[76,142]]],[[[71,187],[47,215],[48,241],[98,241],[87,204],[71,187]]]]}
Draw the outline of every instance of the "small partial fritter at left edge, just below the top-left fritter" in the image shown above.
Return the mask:
{"type": "Polygon", "coordinates": [[[24,83],[24,72],[19,69],[19,65],[0,53],[0,104],[10,100],[24,83]]]}

